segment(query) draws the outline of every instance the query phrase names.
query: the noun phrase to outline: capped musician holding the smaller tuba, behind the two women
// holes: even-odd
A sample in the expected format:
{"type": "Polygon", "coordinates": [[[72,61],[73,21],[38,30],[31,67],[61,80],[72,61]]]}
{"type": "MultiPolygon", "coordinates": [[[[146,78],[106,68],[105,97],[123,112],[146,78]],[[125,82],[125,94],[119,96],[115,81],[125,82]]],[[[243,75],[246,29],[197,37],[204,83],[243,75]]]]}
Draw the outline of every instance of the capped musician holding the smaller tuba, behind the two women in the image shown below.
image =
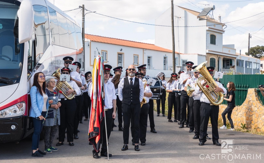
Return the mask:
{"type": "MultiPolygon", "coordinates": [[[[63,67],[61,69],[62,74],[70,74],[70,69],[67,67],[63,67]]],[[[80,95],[81,90],[79,89],[78,85],[73,81],[70,80],[68,82],[73,89],[69,89],[66,91],[67,95],[73,93],[74,95],[80,95]]],[[[58,88],[56,91],[59,92],[58,88]]],[[[60,119],[61,124],[59,125],[59,142],[56,146],[63,145],[64,137],[65,137],[65,130],[67,128],[67,142],[69,142],[70,146],[74,146],[73,144],[73,123],[74,123],[74,114],[76,111],[76,102],[75,98],[69,100],[67,99],[62,93],[59,93],[59,101],[61,102],[60,107],[60,119]]]]}

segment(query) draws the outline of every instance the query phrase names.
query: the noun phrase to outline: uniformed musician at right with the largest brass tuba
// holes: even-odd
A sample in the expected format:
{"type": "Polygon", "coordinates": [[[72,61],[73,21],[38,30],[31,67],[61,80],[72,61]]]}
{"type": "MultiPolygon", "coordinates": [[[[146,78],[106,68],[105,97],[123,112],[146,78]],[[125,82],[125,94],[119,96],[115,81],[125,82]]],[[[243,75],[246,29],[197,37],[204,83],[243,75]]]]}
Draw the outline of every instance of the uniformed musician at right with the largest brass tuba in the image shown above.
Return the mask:
{"type": "MultiPolygon", "coordinates": [[[[203,63],[203,66],[205,66],[205,63],[203,63]]],[[[198,66],[195,70],[200,72],[203,69],[203,66],[198,66]]],[[[206,76],[207,74],[202,74],[207,78],[207,80],[211,77],[213,78],[214,75],[214,67],[207,67],[206,68],[208,72],[210,73],[211,76],[206,76]]],[[[206,72],[205,72],[206,73],[206,72]]],[[[211,80],[210,80],[211,81],[211,80]]],[[[210,82],[209,81],[209,82],[210,82]]],[[[199,82],[199,79],[197,80],[199,82]]],[[[207,134],[207,128],[208,128],[208,122],[209,122],[209,117],[211,118],[211,124],[212,124],[212,136],[213,136],[213,144],[217,146],[221,146],[221,144],[218,142],[219,135],[218,135],[218,113],[219,113],[219,102],[222,101],[223,94],[226,93],[226,89],[223,87],[223,85],[217,81],[215,81],[216,85],[214,85],[214,82],[208,83],[207,81],[201,80],[200,85],[201,87],[196,87],[195,88],[195,93],[196,94],[201,94],[200,102],[201,108],[200,108],[200,117],[201,117],[201,124],[200,124],[200,138],[199,138],[199,145],[202,146],[206,142],[206,134],[207,134]],[[212,87],[213,85],[213,87],[212,87]],[[201,88],[203,87],[203,90],[210,90],[211,89],[211,94],[209,93],[204,93],[202,92],[201,88]],[[218,94],[217,97],[220,97],[220,99],[215,98],[216,93],[218,94]],[[213,97],[216,102],[211,103],[211,99],[209,100],[207,98],[213,97]]],[[[198,85],[199,83],[197,83],[198,85]]]]}

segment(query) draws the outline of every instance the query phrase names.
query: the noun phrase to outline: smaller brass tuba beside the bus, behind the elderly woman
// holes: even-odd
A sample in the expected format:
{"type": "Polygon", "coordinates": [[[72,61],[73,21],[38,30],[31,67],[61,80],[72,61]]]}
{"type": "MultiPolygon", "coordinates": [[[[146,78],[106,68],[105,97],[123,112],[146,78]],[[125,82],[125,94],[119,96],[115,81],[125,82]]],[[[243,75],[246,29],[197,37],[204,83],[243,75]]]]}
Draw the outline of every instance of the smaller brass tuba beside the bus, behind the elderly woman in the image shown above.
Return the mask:
{"type": "Polygon", "coordinates": [[[58,88],[58,90],[62,91],[62,94],[67,99],[73,99],[75,96],[73,93],[71,93],[70,95],[67,95],[67,93],[66,93],[66,91],[68,91],[69,89],[73,90],[73,88],[70,86],[69,83],[60,81],[60,76],[61,76],[60,68],[58,70],[56,70],[51,76],[54,76],[57,79],[55,86],[58,88]]]}

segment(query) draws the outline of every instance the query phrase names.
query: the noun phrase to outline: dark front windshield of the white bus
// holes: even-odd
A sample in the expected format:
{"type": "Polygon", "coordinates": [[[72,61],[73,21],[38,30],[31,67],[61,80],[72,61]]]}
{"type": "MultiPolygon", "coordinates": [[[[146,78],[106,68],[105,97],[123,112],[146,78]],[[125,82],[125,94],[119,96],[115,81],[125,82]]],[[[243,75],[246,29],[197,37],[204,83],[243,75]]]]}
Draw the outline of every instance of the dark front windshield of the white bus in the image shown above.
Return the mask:
{"type": "MultiPolygon", "coordinates": [[[[13,83],[20,81],[24,60],[24,43],[18,41],[18,9],[18,4],[0,0],[0,79],[13,83]]],[[[6,84],[0,80],[0,86],[6,84]]]]}

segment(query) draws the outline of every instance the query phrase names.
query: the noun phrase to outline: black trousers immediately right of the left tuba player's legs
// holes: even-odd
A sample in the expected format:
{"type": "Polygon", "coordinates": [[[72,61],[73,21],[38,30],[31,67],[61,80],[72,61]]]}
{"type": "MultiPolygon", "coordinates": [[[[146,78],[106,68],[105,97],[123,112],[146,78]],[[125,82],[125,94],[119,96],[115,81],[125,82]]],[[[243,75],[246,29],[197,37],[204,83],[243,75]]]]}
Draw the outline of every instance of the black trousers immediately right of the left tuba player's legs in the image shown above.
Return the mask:
{"type": "Polygon", "coordinates": [[[83,95],[80,96],[75,96],[75,100],[76,100],[76,111],[75,111],[75,115],[74,115],[74,128],[73,128],[73,133],[77,134],[77,129],[79,126],[79,122],[80,122],[80,116],[81,116],[81,109],[82,109],[82,105],[83,105],[83,95]]]}

